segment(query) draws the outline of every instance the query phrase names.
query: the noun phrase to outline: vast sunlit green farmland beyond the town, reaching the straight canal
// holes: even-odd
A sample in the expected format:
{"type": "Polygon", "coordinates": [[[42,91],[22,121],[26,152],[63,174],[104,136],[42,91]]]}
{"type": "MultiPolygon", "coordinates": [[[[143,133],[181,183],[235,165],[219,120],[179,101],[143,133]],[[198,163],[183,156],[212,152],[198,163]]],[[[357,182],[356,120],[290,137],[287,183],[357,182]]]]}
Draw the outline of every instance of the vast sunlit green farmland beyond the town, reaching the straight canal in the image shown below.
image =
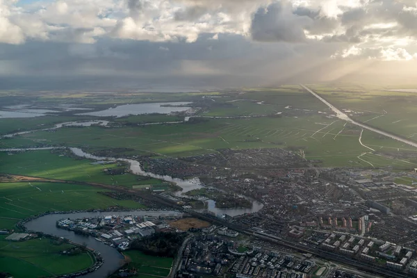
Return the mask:
{"type": "MultiPolygon", "coordinates": [[[[343,84],[340,87],[316,85],[313,88],[318,88],[320,93],[329,97],[329,100],[335,101],[335,104],[342,108],[351,108],[347,105],[350,103],[357,109],[360,106],[363,111],[366,110],[366,107],[368,109],[375,108],[370,104],[362,104],[363,101],[366,102],[366,100],[362,100],[363,96],[361,96],[368,94],[368,92],[365,92],[366,88],[343,84]],[[338,94],[342,95],[339,96],[338,94]],[[340,99],[347,100],[341,103],[340,99]]],[[[381,89],[379,88],[373,95],[368,94],[368,97],[372,99],[378,96],[377,92],[381,92],[381,89]]],[[[199,93],[181,95],[185,98],[187,96],[190,99],[185,100],[202,99],[202,94],[199,93]]],[[[143,95],[140,95],[140,97],[143,97],[143,95]]],[[[160,94],[158,97],[166,96],[160,94]]],[[[323,163],[318,165],[326,167],[379,167],[391,165],[396,168],[409,169],[417,164],[417,158],[408,158],[409,161],[407,161],[407,159],[395,159],[392,156],[392,152],[414,153],[417,149],[392,139],[382,138],[371,131],[363,131],[363,145],[375,150],[370,152],[370,149],[359,142],[361,129],[346,124],[342,120],[329,118],[327,115],[318,113],[319,111],[329,112],[329,109],[316,97],[294,86],[276,89],[247,89],[243,91],[243,94],[224,93],[222,95],[206,95],[206,97],[212,97],[211,101],[208,101],[212,104],[208,111],[202,115],[259,115],[276,113],[277,111],[282,111],[283,114],[282,117],[198,119],[197,122],[172,125],[124,126],[111,129],[92,126],[85,129],[59,129],[54,133],[38,131],[10,140],[1,140],[0,148],[64,144],[81,147],[87,151],[88,149],[126,148],[124,155],[147,154],[159,157],[181,157],[214,153],[217,149],[226,148],[281,147],[300,153],[306,159],[322,161],[323,163]],[[261,101],[263,101],[263,104],[257,104],[261,101]],[[82,132],[79,132],[81,130],[82,132]],[[77,136],[74,136],[74,133],[77,133],[77,136]]],[[[354,107],[351,109],[355,111],[354,107]]],[[[375,115],[379,115],[384,110],[382,108],[378,109],[375,115]]],[[[399,108],[395,109],[398,110],[399,108]]],[[[361,117],[366,117],[368,120],[375,117],[373,113],[366,112],[372,114],[368,115],[365,112],[360,114],[361,117]]],[[[389,113],[391,112],[389,111],[389,113]]],[[[141,117],[147,119],[153,116],[126,117],[126,119],[120,120],[136,122],[140,121],[141,117]]],[[[159,115],[155,117],[159,117],[159,115]]],[[[375,120],[382,118],[379,117],[375,120]]],[[[106,178],[108,179],[104,176],[104,179],[106,178]]],[[[117,181],[117,183],[120,182],[117,181]]],[[[131,181],[126,182],[130,183],[131,181]]]]}

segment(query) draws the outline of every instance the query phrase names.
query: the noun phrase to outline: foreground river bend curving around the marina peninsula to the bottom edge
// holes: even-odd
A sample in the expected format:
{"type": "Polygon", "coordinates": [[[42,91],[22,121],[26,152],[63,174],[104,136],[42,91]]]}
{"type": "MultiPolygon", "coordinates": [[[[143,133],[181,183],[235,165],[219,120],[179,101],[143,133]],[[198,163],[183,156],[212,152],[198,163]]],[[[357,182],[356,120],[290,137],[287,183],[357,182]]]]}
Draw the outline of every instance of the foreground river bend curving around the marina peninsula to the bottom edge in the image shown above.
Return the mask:
{"type": "Polygon", "coordinates": [[[120,268],[120,261],[123,259],[122,254],[115,248],[105,245],[104,243],[95,240],[92,236],[81,236],[74,234],[73,231],[67,231],[65,229],[58,229],[56,227],[56,221],[63,218],[79,219],[79,218],[93,218],[104,215],[137,215],[137,216],[160,216],[160,215],[179,215],[181,213],[177,211],[113,211],[113,212],[90,212],[90,213],[63,213],[63,214],[49,214],[44,215],[35,220],[26,222],[25,227],[30,231],[41,231],[44,234],[50,234],[53,236],[67,238],[73,243],[83,244],[87,247],[97,250],[101,253],[104,259],[101,268],[95,272],[90,272],[83,277],[86,278],[103,278],[107,277],[109,273],[115,272],[120,268]]]}

